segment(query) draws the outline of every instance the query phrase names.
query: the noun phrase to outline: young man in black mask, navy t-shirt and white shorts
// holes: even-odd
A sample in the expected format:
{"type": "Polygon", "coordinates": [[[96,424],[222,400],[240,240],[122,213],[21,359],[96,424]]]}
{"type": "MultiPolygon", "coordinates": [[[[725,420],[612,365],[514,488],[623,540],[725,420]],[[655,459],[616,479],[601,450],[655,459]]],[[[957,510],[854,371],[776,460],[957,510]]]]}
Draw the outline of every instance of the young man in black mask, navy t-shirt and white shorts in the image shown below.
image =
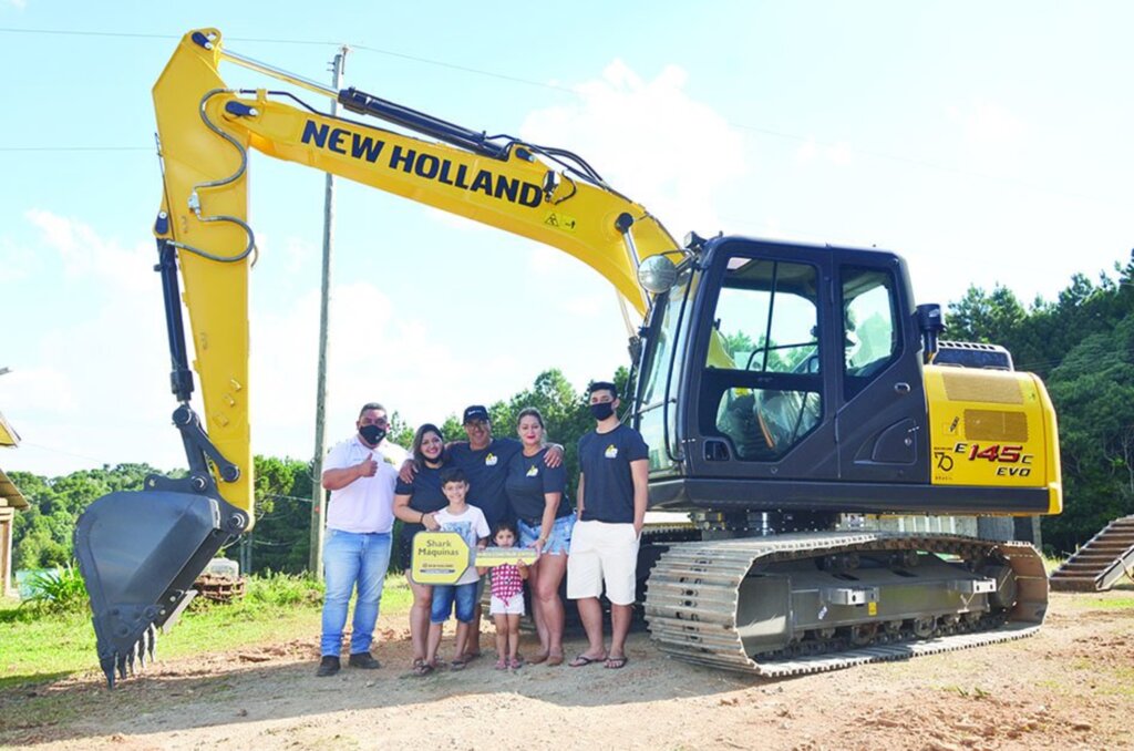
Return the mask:
{"type": "Polygon", "coordinates": [[[641,433],[618,421],[618,388],[591,383],[595,427],[578,440],[578,521],[567,557],[567,598],[590,642],[572,667],[604,661],[626,665],[626,634],[637,588],[637,552],[649,504],[649,448],[641,433]],[[603,647],[602,606],[606,584],[610,600],[610,651],[603,647]]]}

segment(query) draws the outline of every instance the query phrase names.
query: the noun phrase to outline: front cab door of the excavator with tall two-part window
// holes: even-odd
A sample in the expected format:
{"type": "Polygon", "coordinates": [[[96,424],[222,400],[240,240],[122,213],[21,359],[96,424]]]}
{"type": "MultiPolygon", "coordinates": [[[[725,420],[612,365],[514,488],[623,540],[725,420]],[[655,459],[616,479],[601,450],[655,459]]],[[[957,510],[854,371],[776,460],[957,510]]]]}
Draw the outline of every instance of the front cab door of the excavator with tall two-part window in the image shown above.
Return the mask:
{"type": "Polygon", "coordinates": [[[723,238],[704,267],[683,383],[688,473],[837,478],[830,251],[723,238]]]}

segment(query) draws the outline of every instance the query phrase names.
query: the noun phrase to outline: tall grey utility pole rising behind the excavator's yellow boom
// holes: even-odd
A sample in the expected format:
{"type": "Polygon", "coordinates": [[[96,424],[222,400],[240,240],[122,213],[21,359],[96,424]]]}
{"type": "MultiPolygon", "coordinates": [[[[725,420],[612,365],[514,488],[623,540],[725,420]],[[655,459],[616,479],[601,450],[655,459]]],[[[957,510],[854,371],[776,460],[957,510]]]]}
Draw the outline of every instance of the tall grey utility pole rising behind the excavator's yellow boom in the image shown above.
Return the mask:
{"type": "MultiPolygon", "coordinates": [[[[344,44],[331,64],[335,90],[342,88],[342,64],[349,48],[344,44]]],[[[331,102],[331,117],[339,113],[338,101],[331,102]]],[[[327,330],[331,310],[331,238],[335,234],[335,176],[327,174],[323,201],[323,281],[319,303],[319,374],[315,377],[315,458],[311,463],[311,556],[307,569],[323,577],[323,529],[327,520],[327,493],[323,491],[323,456],[327,454],[327,330]]]]}

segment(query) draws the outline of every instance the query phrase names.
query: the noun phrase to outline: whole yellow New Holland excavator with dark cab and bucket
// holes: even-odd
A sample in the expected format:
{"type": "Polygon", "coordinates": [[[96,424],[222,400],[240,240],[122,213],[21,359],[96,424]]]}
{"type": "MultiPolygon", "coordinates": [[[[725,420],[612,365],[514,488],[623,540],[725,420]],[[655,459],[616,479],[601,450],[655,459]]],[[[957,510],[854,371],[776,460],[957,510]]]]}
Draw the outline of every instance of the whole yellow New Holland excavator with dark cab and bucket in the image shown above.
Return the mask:
{"type": "Polygon", "coordinates": [[[226,49],[213,28],[185,35],[153,99],[155,268],[189,466],[100,498],[76,529],[111,685],[152,659],[197,574],[252,528],[249,149],[565,251],[643,317],[626,419],[650,445],[651,508],[695,522],[643,546],[643,609],[667,653],[792,675],[1025,636],[1043,621],[1031,545],[883,523],[1061,508],[1043,385],[1006,353],[940,341],[940,307],[914,303],[898,255],[737,236],[678,244],[569,151],[329,88],[226,49]],[[222,61],[357,117],[230,88],[222,61]]]}

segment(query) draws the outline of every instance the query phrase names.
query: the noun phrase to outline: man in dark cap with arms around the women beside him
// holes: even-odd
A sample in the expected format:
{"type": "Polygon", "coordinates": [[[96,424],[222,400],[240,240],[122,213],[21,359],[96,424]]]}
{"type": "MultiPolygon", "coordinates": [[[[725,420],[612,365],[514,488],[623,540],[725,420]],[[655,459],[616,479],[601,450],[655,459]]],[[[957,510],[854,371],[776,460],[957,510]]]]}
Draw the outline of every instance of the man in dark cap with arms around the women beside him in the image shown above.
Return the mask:
{"type": "MultiPolygon", "coordinates": [[[[462,416],[468,442],[457,441],[449,445],[449,461],[452,466],[462,470],[468,478],[468,503],[484,514],[489,528],[508,518],[508,496],[505,491],[505,480],[508,475],[508,461],[524,450],[524,445],[515,438],[493,438],[492,421],[489,411],[480,404],[465,408],[462,416]]],[[[551,444],[544,457],[548,466],[562,464],[564,448],[551,444]]],[[[408,473],[413,479],[413,464],[401,467],[403,480],[408,473]]],[[[408,482],[408,480],[407,480],[408,482]]],[[[483,585],[483,579],[481,580],[483,585]]],[[[472,656],[480,655],[481,604],[480,593],[476,598],[476,609],[473,611],[473,624],[468,635],[468,650],[472,656]]]]}

